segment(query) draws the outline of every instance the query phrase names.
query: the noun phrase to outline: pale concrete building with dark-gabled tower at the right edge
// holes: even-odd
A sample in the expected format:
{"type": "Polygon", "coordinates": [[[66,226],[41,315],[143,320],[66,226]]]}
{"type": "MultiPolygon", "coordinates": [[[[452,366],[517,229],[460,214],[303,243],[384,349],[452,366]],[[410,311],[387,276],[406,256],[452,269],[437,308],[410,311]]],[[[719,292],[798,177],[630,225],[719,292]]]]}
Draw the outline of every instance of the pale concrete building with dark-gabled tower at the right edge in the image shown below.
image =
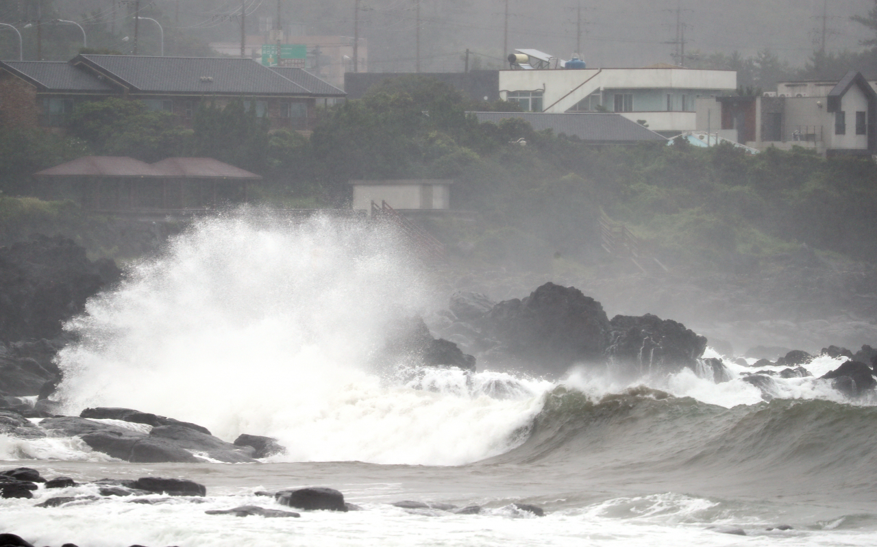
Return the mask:
{"type": "Polygon", "coordinates": [[[802,146],[825,155],[877,154],[877,92],[861,73],[850,72],[831,88],[791,83],[780,89],[806,90],[704,98],[697,105],[697,129],[759,150],[802,146]]]}

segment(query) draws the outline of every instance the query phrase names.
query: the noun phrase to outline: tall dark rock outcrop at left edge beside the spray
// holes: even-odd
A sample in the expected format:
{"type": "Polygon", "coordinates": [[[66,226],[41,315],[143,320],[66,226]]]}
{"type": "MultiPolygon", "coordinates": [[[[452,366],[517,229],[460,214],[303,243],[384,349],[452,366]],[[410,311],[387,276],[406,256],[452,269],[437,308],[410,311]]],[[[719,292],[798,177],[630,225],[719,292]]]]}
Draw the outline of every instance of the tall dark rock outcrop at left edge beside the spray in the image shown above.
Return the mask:
{"type": "Polygon", "coordinates": [[[91,262],[66,238],[38,235],[0,248],[0,337],[57,337],[61,323],[120,276],[111,260],[91,262]]]}

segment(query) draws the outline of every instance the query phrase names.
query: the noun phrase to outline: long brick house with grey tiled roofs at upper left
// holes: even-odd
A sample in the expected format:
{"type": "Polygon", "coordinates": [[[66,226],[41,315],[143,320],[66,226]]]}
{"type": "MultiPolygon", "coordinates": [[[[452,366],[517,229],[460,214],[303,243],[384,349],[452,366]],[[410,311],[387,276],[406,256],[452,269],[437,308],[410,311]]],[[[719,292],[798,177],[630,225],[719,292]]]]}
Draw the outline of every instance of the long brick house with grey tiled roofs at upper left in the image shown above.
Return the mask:
{"type": "Polygon", "coordinates": [[[224,106],[242,98],[272,129],[307,131],[318,99],[345,94],[301,72],[287,75],[236,58],[80,54],[68,62],[0,61],[0,119],[60,127],[76,103],[118,96],[171,112],[188,126],[199,103],[224,106]]]}

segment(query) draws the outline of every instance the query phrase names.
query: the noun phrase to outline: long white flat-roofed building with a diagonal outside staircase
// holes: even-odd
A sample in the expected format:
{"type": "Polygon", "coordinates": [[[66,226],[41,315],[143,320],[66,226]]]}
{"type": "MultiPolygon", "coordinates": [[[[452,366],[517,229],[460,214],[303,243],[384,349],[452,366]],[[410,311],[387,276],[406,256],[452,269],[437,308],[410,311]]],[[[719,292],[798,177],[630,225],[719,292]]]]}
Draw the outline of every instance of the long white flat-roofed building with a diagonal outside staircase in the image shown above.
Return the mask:
{"type": "Polygon", "coordinates": [[[737,89],[732,70],[645,68],[501,70],[500,96],[534,112],[617,112],[665,136],[697,128],[695,101],[737,89]]]}

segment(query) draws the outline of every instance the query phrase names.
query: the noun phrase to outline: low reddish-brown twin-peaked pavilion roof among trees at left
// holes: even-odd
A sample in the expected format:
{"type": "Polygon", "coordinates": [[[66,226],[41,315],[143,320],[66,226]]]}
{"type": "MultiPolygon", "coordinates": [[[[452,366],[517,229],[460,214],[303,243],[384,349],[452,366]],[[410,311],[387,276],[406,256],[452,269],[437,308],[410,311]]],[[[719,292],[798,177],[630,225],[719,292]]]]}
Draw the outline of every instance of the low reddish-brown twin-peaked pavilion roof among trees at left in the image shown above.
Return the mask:
{"type": "Polygon", "coordinates": [[[168,158],[153,164],[125,156],[85,156],[34,173],[38,177],[237,179],[262,177],[212,158],[168,158]]]}

